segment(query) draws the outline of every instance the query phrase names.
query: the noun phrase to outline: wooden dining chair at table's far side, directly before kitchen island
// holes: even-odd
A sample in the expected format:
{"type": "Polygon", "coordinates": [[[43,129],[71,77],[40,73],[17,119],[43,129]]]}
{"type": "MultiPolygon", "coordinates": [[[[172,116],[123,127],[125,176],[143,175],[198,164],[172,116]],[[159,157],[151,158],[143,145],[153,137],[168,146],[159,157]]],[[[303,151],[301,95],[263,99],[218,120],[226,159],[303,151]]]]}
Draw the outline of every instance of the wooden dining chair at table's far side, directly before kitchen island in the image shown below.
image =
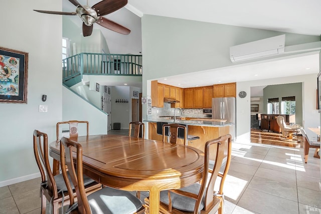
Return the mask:
{"type": "Polygon", "coordinates": [[[183,129],[183,139],[184,139],[184,145],[187,145],[187,132],[186,132],[186,126],[180,125],[178,123],[169,123],[163,125],[163,142],[169,141],[170,143],[177,143],[178,135],[179,135],[179,129],[183,129]],[[169,131],[167,131],[169,130],[169,131]],[[168,133],[168,135],[166,135],[168,133]],[[169,140],[166,140],[168,138],[169,140]]]}

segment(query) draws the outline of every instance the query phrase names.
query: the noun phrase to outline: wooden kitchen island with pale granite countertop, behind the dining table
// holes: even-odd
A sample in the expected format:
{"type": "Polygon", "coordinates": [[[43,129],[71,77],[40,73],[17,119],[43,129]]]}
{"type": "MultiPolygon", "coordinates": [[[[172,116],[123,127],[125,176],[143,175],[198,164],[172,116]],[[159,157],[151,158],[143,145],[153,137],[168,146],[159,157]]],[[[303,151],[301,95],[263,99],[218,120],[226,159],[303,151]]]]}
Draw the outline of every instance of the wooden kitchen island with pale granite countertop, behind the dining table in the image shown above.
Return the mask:
{"type": "MultiPolygon", "coordinates": [[[[199,136],[200,139],[189,141],[188,145],[198,148],[204,151],[205,143],[208,140],[212,140],[218,138],[220,136],[226,135],[230,133],[230,126],[233,123],[227,122],[218,122],[218,121],[210,121],[210,120],[176,120],[174,119],[152,119],[145,120],[144,122],[148,122],[148,139],[152,140],[163,140],[163,136],[161,134],[157,134],[157,122],[163,123],[179,123],[183,125],[187,125],[188,127],[188,135],[199,136]]],[[[183,144],[183,139],[178,139],[178,143],[183,144]]],[[[216,152],[210,156],[211,160],[214,160],[216,152]]]]}

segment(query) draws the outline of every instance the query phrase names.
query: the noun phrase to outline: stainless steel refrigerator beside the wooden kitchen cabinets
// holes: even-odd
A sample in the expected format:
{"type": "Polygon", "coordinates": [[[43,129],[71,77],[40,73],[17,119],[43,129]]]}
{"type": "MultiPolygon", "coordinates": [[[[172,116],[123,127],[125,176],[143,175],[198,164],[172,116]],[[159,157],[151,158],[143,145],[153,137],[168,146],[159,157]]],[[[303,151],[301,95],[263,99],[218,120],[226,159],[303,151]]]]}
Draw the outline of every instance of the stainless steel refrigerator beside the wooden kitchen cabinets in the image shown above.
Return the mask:
{"type": "Polygon", "coordinates": [[[222,97],[212,99],[212,119],[226,120],[233,123],[230,126],[232,140],[236,138],[236,99],[235,97],[222,97]]]}

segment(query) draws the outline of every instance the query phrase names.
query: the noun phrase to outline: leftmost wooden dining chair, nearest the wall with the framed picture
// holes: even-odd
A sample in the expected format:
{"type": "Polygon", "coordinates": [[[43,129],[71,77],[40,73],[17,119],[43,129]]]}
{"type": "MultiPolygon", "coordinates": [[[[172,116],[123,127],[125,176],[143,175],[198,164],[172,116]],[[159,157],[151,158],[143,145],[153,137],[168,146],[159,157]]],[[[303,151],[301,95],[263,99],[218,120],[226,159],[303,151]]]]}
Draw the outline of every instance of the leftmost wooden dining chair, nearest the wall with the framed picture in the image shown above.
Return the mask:
{"type": "MultiPolygon", "coordinates": [[[[46,133],[34,130],[34,153],[41,174],[41,213],[46,213],[46,200],[50,203],[50,212],[58,213],[58,208],[64,202],[69,203],[69,195],[62,174],[54,175],[49,163],[48,136],[46,133]]],[[[86,192],[101,188],[101,184],[88,176],[84,177],[86,192]]]]}

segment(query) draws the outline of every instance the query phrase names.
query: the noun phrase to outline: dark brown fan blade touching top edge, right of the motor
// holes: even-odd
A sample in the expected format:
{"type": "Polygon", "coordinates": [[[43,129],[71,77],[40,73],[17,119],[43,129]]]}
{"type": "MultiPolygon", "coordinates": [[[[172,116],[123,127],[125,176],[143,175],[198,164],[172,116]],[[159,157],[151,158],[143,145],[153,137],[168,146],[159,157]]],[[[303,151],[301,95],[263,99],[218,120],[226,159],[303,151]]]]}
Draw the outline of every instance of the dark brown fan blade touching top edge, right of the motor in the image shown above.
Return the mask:
{"type": "Polygon", "coordinates": [[[94,9],[98,17],[100,17],[121,9],[127,5],[127,3],[128,0],[103,0],[91,8],[94,9]]]}

